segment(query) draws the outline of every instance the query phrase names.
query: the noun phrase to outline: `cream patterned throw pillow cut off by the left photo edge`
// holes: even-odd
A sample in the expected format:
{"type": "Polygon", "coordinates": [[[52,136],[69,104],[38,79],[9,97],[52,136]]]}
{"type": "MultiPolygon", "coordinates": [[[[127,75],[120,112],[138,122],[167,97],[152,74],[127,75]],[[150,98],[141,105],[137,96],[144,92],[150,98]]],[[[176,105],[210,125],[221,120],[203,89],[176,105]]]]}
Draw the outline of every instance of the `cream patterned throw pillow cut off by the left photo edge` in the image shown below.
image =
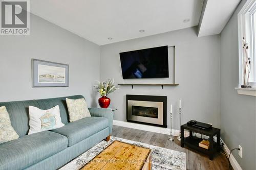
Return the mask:
{"type": "Polygon", "coordinates": [[[6,107],[0,107],[0,144],[17,138],[18,134],[15,132],[11,125],[11,120],[6,107]]]}

